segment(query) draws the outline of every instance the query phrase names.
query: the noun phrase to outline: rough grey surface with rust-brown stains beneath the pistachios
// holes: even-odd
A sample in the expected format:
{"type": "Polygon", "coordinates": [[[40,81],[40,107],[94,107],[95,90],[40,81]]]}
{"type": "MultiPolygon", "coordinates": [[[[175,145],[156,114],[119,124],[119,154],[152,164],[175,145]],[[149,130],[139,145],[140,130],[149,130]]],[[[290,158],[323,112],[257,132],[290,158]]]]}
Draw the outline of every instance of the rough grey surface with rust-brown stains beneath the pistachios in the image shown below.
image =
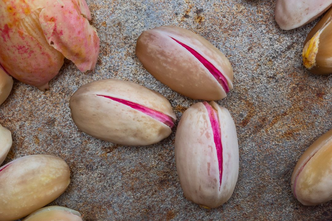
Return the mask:
{"type": "Polygon", "coordinates": [[[301,65],[303,41],[317,21],[283,31],[270,0],[87,3],[101,38],[95,71],[80,73],[65,61],[49,91],[16,81],[0,106],[0,123],[12,131],[14,141],[4,163],[47,153],[69,164],[71,184],[51,205],[78,210],[85,221],[332,219],[331,202],[302,206],[290,190],[297,159],[332,128],[332,76],[313,76],[301,65]],[[135,56],[139,34],[160,25],[197,32],[234,69],[234,89],[218,103],[236,124],[240,171],[232,197],[217,209],[184,198],[174,162],[175,129],[158,144],[126,147],[82,133],[70,117],[73,92],[103,78],[133,81],[162,93],[178,120],[197,102],[158,82],[135,56]]]}

